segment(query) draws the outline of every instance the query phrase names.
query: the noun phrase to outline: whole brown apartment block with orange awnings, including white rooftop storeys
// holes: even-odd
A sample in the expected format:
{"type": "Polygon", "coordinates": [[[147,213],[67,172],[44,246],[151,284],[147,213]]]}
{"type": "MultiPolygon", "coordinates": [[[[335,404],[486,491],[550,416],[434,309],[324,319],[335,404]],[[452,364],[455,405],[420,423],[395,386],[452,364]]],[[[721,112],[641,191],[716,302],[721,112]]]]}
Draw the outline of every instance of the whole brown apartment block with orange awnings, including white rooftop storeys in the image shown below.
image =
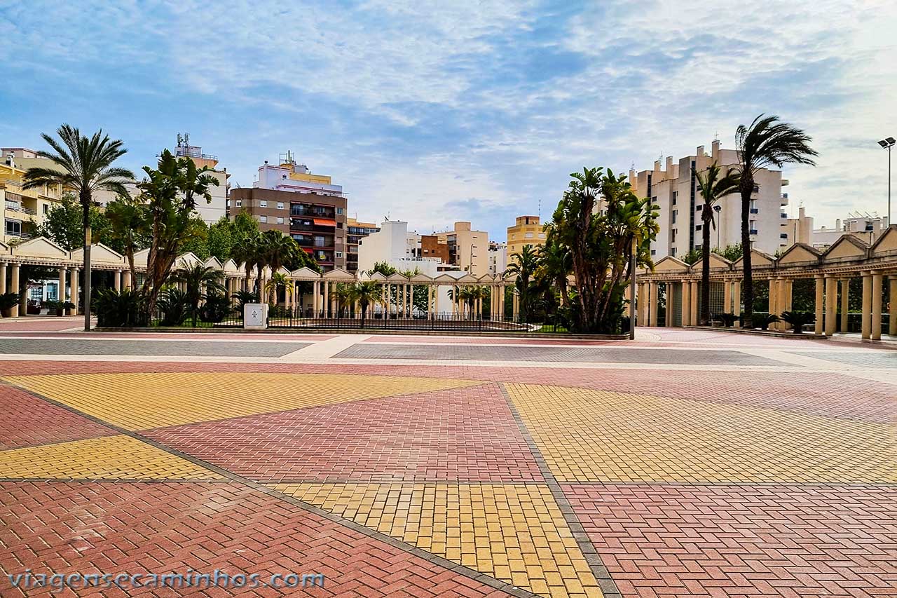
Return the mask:
{"type": "Polygon", "coordinates": [[[251,188],[232,189],[231,215],[245,211],[261,230],[292,236],[325,270],[346,268],[346,198],[327,175],[312,174],[289,152],[274,166],[258,167],[251,188]]]}

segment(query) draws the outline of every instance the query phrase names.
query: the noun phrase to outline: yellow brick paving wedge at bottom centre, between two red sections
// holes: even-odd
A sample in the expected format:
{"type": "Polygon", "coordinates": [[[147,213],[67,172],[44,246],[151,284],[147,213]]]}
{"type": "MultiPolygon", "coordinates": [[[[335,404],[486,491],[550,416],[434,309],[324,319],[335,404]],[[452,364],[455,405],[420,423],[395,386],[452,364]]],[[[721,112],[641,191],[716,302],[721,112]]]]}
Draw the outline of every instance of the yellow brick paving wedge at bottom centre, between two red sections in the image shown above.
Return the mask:
{"type": "Polygon", "coordinates": [[[600,596],[536,484],[276,484],[277,490],[536,594],[600,596]]]}

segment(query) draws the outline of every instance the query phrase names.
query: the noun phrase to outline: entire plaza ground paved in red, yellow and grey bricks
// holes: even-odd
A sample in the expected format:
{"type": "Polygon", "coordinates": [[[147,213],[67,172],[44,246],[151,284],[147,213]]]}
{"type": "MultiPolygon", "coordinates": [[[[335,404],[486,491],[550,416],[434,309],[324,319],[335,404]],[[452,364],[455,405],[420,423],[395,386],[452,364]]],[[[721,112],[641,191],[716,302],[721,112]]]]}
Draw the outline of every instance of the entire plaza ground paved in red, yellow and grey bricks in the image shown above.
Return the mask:
{"type": "Polygon", "coordinates": [[[80,323],[0,321],[4,598],[49,594],[13,589],[26,569],[320,573],[292,590],[314,596],[897,595],[893,344],[80,323]]]}

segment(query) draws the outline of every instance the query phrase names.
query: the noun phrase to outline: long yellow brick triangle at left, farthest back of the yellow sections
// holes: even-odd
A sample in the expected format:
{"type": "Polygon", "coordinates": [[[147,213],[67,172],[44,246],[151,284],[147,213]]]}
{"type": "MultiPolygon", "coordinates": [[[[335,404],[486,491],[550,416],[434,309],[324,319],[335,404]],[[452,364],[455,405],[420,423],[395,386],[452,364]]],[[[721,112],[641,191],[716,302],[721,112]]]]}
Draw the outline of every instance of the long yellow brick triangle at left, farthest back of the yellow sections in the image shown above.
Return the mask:
{"type": "Polygon", "coordinates": [[[59,374],[5,379],[127,430],[482,383],[403,376],[266,373],[59,374]]]}

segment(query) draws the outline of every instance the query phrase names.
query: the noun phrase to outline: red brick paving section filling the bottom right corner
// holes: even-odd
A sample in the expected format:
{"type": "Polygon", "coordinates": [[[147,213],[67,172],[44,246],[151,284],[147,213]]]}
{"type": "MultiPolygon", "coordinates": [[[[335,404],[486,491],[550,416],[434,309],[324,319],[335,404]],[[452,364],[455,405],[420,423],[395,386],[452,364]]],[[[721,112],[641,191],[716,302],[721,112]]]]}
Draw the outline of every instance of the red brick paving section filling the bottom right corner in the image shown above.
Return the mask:
{"type": "Polygon", "coordinates": [[[897,595],[897,488],[562,488],[626,596],[897,595]]]}

